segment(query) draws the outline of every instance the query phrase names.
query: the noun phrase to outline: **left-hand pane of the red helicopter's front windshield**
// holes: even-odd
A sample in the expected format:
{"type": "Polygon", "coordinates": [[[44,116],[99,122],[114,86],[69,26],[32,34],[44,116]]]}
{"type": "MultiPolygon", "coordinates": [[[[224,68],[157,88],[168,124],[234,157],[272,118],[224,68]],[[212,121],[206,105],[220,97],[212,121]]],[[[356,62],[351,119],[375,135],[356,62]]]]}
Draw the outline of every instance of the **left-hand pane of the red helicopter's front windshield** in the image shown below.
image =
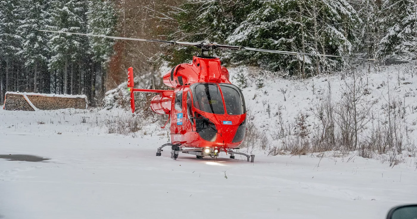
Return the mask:
{"type": "Polygon", "coordinates": [[[216,84],[196,84],[192,90],[195,108],[207,113],[224,114],[223,100],[216,84]]]}

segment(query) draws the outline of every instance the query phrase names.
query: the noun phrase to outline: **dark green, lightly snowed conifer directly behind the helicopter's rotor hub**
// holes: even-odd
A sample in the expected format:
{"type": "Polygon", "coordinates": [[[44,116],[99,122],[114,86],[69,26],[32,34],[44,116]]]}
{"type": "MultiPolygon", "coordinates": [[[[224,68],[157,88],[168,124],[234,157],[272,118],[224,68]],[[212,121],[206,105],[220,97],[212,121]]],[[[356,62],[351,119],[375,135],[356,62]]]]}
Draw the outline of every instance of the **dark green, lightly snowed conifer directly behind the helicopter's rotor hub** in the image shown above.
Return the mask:
{"type": "MultiPolygon", "coordinates": [[[[180,8],[173,9],[176,10],[173,17],[178,22],[178,29],[171,34],[171,38],[224,43],[245,18],[249,3],[249,0],[186,0],[180,8]]],[[[198,52],[192,47],[176,47],[168,51],[166,59],[170,65],[176,65],[188,62],[198,52]]]]}

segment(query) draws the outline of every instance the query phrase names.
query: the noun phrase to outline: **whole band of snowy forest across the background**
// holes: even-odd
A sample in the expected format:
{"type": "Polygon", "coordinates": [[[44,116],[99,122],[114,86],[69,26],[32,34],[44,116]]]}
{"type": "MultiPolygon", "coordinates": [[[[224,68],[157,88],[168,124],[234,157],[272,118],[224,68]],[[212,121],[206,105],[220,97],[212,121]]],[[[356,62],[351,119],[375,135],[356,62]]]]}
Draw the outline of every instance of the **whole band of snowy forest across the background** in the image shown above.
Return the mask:
{"type": "MultiPolygon", "coordinates": [[[[94,106],[126,81],[189,62],[198,50],[158,43],[41,32],[201,41],[377,59],[369,68],[416,61],[417,0],[0,0],[0,100],[6,91],[85,94],[94,106]]],[[[333,73],[341,58],[216,51],[224,65],[286,77],[333,73]]],[[[148,79],[146,79],[148,80],[148,79]]]]}

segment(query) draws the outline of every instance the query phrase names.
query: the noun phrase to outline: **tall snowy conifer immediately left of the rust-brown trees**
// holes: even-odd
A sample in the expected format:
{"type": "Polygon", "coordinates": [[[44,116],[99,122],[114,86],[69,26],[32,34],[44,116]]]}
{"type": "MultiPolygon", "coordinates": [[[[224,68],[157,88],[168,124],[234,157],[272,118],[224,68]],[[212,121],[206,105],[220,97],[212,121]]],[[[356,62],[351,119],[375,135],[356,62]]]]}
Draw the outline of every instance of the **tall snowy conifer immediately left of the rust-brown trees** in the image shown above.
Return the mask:
{"type": "MultiPolygon", "coordinates": [[[[116,6],[111,0],[90,0],[87,12],[88,33],[97,35],[115,36],[116,34],[116,6]]],[[[98,89],[95,94],[103,97],[105,93],[104,84],[108,62],[113,54],[114,40],[108,38],[89,38],[90,53],[95,63],[95,78],[97,78],[98,89]]]]}

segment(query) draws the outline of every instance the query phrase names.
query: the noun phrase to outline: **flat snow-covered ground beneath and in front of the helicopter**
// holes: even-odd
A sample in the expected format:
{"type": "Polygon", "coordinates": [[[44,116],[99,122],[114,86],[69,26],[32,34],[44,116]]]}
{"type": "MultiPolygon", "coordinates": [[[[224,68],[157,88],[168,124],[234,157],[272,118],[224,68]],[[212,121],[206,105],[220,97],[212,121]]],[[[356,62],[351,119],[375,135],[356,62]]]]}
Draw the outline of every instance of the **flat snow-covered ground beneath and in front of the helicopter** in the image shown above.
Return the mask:
{"type": "Polygon", "coordinates": [[[357,156],[195,159],[170,150],[156,125],[136,138],[108,134],[121,111],[0,110],[0,218],[382,219],[417,202],[414,157],[389,167],[357,156]],[[146,135],[144,134],[146,132],[146,135]]]}

